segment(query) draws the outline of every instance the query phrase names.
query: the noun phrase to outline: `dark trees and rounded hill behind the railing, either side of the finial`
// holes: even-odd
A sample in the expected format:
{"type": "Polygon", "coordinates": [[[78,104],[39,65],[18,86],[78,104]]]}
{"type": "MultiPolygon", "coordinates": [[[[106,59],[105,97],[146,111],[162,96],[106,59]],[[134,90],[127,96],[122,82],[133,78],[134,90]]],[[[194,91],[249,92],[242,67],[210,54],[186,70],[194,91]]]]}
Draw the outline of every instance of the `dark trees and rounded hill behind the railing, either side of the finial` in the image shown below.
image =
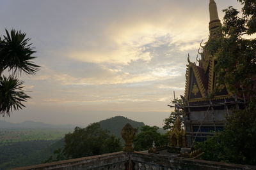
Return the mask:
{"type": "Polygon", "coordinates": [[[112,130],[112,134],[115,132],[120,134],[127,122],[136,125],[138,128],[138,134],[134,138],[135,150],[148,150],[148,148],[152,147],[153,141],[155,141],[156,146],[167,145],[168,135],[159,133],[159,127],[144,125],[143,122],[135,122],[125,117],[113,117],[102,120],[99,123],[90,124],[86,128],[76,127],[74,132],[65,135],[63,148],[55,150],[54,156],[45,162],[121,151],[121,139],[115,135],[110,135],[108,130],[112,130]],[[102,122],[104,128],[102,127],[102,122]],[[116,129],[113,131],[113,126],[115,125],[116,129]]]}

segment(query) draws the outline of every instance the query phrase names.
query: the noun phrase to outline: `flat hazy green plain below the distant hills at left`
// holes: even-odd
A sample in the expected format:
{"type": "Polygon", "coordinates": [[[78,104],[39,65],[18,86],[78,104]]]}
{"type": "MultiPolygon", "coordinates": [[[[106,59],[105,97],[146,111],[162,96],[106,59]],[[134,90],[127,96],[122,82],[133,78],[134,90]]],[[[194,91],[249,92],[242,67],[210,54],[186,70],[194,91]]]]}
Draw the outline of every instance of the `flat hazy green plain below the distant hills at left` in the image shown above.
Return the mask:
{"type": "Polygon", "coordinates": [[[63,137],[70,131],[72,129],[0,129],[0,169],[41,164],[51,157],[52,151],[63,148],[63,137]]]}

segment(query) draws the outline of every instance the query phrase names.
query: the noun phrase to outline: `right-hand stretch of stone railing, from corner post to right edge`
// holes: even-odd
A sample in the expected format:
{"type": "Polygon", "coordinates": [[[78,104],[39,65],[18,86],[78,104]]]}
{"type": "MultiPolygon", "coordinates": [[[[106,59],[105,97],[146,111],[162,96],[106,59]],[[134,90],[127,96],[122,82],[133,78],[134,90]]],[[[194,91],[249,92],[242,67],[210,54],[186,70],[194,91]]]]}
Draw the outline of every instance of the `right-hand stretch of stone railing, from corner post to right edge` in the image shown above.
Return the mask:
{"type": "Polygon", "coordinates": [[[134,169],[187,169],[187,170],[214,170],[214,169],[256,169],[256,166],[246,166],[239,164],[227,164],[223,162],[213,162],[208,160],[184,159],[181,157],[170,157],[166,155],[148,154],[141,152],[131,153],[132,167],[134,169]]]}

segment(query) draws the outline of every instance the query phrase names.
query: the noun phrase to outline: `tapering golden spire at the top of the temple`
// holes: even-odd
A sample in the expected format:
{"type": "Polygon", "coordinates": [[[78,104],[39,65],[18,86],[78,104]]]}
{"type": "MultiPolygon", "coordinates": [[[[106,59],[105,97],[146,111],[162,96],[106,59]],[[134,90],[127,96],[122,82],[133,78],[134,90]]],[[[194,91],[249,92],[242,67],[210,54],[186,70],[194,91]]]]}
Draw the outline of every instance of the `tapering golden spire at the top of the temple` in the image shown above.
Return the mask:
{"type": "Polygon", "coordinates": [[[212,36],[221,35],[221,22],[218,17],[217,5],[214,0],[210,0],[209,12],[210,12],[210,22],[209,22],[210,36],[212,37],[212,36]]]}

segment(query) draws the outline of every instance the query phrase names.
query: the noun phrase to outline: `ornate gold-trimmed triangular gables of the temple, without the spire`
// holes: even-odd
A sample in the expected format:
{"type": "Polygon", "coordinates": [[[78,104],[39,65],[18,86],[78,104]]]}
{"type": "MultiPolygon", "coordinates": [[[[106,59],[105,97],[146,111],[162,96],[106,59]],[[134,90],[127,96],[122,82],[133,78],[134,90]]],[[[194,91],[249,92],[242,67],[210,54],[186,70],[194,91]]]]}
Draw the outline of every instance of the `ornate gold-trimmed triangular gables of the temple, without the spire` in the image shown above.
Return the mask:
{"type": "Polygon", "coordinates": [[[232,93],[228,91],[227,86],[219,85],[216,81],[217,77],[214,73],[214,56],[209,55],[209,64],[206,64],[207,70],[202,66],[202,62],[205,60],[198,60],[199,66],[196,66],[195,62],[190,62],[187,65],[186,70],[186,87],[185,87],[185,98],[189,102],[205,101],[211,96],[211,99],[223,99],[230,98],[232,93]]]}

